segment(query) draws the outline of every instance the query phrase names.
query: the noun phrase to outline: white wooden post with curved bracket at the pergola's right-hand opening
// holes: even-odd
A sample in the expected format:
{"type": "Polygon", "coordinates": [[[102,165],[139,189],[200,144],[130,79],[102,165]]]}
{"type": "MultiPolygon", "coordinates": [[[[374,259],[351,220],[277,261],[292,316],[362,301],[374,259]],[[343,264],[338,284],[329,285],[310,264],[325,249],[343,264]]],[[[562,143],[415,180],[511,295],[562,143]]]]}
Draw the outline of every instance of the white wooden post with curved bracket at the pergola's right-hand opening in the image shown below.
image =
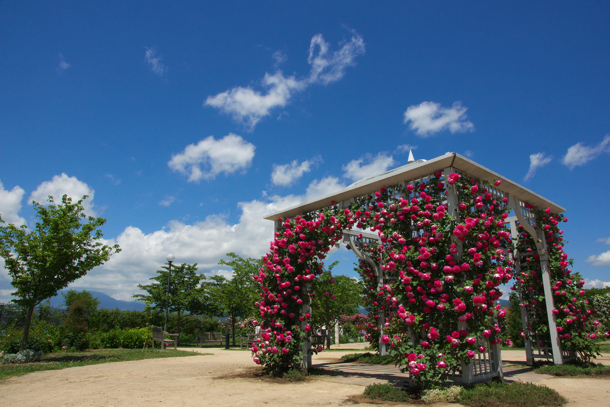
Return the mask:
{"type": "Polygon", "coordinates": [[[542,286],[544,287],[544,299],[547,304],[547,317],[548,317],[548,331],[551,336],[551,347],[553,348],[553,362],[555,365],[563,364],[563,357],[561,354],[561,342],[559,342],[559,335],[557,333],[556,317],[553,314],[555,309],[555,301],[553,298],[553,291],[551,290],[551,277],[548,270],[548,254],[547,254],[547,241],[544,234],[540,237],[526,220],[523,218],[521,207],[519,206],[519,200],[517,197],[511,195],[509,197],[510,206],[514,208],[515,215],[519,219],[519,223],[525,230],[531,235],[536,243],[536,249],[540,260],[540,271],[542,272],[542,286]]]}

